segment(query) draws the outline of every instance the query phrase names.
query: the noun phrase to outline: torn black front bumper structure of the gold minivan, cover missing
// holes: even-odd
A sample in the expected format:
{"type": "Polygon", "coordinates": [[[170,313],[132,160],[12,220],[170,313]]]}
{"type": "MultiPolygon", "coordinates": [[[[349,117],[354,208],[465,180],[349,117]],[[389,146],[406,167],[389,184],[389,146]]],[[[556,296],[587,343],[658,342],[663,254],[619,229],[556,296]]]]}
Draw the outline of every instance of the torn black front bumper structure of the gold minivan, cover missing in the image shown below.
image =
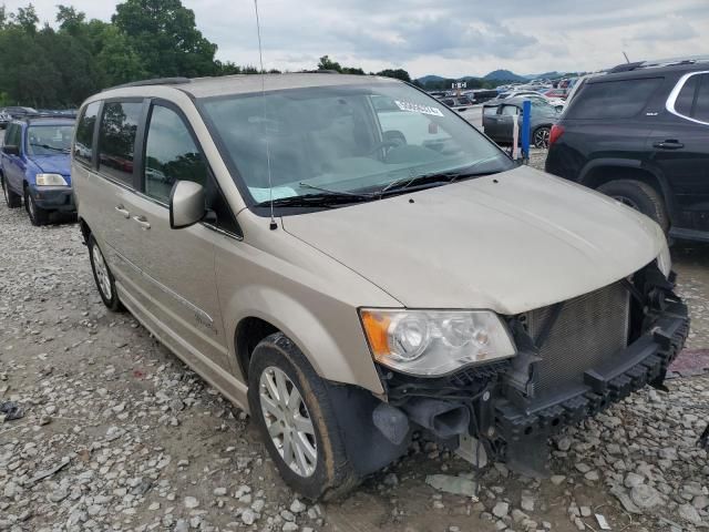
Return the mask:
{"type": "MultiPolygon", "coordinates": [[[[442,378],[414,378],[382,368],[387,402],[363,390],[332,387],[333,401],[350,407],[343,409],[340,426],[352,463],[361,473],[372,472],[405,452],[414,429],[424,429],[451,449],[473,437],[487,456],[505,460],[513,470],[546,474],[551,434],[646,385],[661,387],[685,345],[689,317],[674,293],[674,275],[665,278],[653,263],[616,286],[620,283],[627,289],[629,316],[623,347],[584,366],[559,386],[535,386],[544,380],[540,368],[548,368],[540,346],[543,339],[533,338],[517,316],[508,317],[518,349],[515,359],[442,378]]],[[[555,325],[556,318],[548,319],[545,328],[555,325]]],[[[568,354],[557,350],[557,357],[572,359],[571,340],[568,354]]],[[[574,364],[579,367],[578,358],[574,364]]],[[[480,447],[474,454],[479,451],[480,447]]]]}

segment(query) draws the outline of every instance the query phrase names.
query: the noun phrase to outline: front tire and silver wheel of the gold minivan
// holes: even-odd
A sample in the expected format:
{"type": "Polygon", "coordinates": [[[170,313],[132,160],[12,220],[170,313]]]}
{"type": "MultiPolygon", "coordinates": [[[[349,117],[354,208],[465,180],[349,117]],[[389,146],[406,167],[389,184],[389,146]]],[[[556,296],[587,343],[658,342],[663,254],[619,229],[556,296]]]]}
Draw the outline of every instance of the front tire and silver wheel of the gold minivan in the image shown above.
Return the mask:
{"type": "Polygon", "coordinates": [[[282,332],[256,346],[248,383],[251,419],[288,485],[311,500],[357,487],[327,385],[282,332]]]}

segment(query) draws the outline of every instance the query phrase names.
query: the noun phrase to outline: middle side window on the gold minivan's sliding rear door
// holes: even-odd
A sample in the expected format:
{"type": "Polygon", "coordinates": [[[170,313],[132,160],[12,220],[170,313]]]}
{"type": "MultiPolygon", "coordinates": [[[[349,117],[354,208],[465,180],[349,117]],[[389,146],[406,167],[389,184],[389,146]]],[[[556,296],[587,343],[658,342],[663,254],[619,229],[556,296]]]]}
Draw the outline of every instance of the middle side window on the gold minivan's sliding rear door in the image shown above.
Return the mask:
{"type": "Polygon", "coordinates": [[[127,185],[133,185],[135,134],[142,108],[140,102],[110,102],[103,105],[99,166],[103,174],[127,185]]]}

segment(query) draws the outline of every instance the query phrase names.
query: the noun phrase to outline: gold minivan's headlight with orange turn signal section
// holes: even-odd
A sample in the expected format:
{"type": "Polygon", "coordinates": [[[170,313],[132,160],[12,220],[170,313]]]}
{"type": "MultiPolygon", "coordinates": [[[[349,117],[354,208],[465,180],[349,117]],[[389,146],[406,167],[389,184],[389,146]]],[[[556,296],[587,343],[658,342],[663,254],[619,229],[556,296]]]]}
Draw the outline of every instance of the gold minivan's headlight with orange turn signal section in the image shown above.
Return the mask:
{"type": "Polygon", "coordinates": [[[516,354],[489,310],[362,309],[360,318],[374,359],[410,375],[434,377],[516,354]]]}

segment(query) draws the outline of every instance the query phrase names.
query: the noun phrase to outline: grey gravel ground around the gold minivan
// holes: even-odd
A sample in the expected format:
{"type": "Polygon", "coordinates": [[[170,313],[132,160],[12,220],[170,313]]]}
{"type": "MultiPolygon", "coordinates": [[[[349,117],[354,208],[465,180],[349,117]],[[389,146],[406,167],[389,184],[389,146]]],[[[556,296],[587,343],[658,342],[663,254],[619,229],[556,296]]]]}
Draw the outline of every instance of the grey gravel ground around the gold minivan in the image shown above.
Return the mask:
{"type": "MultiPolygon", "coordinates": [[[[709,253],[675,255],[693,319],[682,357],[703,360],[709,253]]],[[[0,422],[0,530],[595,532],[596,513],[616,531],[709,528],[709,466],[696,447],[709,375],[568,428],[549,480],[493,464],[479,498],[450,494],[428,475],[473,479],[470,466],[415,441],[346,501],[309,505],[244,412],[129,314],[104,308],[75,224],[32,227],[3,203],[0,257],[0,402],[24,409],[0,422]]]]}

